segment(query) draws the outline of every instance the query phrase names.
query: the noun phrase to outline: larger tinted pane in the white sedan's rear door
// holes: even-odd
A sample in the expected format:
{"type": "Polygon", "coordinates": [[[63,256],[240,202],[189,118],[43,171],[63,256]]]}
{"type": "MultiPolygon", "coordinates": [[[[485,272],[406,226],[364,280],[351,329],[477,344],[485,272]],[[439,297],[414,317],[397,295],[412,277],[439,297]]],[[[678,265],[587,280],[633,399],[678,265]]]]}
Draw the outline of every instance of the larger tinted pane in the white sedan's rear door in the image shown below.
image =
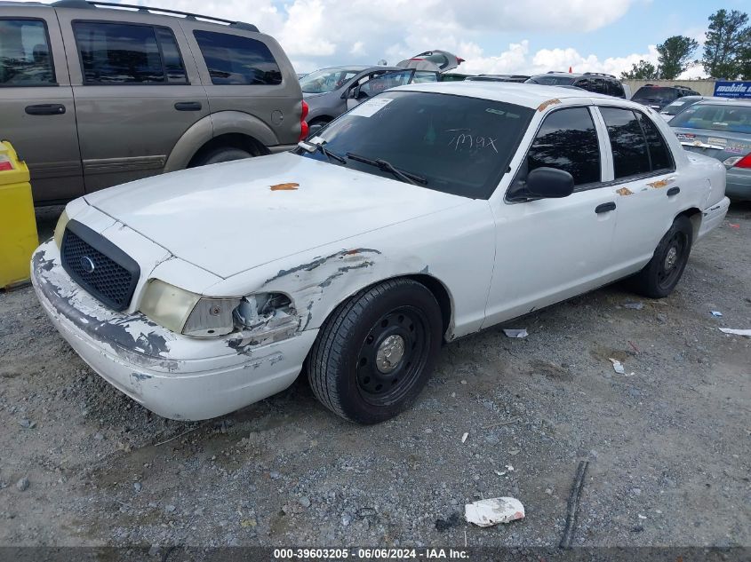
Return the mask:
{"type": "Polygon", "coordinates": [[[611,139],[615,178],[651,172],[650,154],[642,127],[630,109],[601,107],[611,139]]]}

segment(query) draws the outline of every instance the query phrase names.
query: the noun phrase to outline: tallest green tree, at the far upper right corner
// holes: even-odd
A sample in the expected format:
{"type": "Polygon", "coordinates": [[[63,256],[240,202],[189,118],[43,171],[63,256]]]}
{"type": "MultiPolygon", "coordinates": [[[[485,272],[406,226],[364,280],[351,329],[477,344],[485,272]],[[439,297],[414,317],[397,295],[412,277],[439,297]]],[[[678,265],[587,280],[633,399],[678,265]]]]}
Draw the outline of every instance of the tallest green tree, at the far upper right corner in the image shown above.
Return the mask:
{"type": "Polygon", "coordinates": [[[713,78],[736,78],[741,74],[744,46],[751,29],[746,27],[748,14],[738,10],[717,10],[709,16],[704,42],[704,69],[713,78]]]}

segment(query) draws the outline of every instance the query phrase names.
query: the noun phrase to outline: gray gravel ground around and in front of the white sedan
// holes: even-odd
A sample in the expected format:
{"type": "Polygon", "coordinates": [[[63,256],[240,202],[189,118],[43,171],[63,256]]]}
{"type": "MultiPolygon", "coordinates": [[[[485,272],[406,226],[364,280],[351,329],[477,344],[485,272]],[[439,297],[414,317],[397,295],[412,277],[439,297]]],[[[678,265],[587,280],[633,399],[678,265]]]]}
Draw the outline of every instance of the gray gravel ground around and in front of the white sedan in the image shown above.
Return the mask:
{"type": "Polygon", "coordinates": [[[582,459],[574,545],[751,545],[751,339],[717,329],[751,328],[749,241],[751,205],[733,205],[663,301],[615,285],[507,324],[525,339],[448,345],[414,408],[373,427],[304,378],[164,420],[95,375],[31,289],[0,292],[0,545],[552,546],[582,459]],[[526,518],[464,521],[499,495],[526,518]]]}

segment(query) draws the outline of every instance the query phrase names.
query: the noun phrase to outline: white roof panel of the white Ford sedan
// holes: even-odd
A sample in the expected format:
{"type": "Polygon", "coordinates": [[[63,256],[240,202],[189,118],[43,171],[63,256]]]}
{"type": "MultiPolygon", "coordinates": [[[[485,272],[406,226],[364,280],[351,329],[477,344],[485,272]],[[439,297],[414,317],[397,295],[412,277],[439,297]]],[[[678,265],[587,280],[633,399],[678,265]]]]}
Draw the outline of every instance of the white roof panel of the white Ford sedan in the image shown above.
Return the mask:
{"type": "MultiPolygon", "coordinates": [[[[609,99],[613,102],[625,101],[603,94],[579,88],[560,88],[558,86],[545,86],[542,84],[515,83],[515,82],[437,82],[437,83],[412,83],[399,86],[394,90],[431,91],[455,96],[468,96],[471,98],[492,99],[505,101],[517,106],[538,108],[541,104],[551,99],[609,99]]],[[[393,90],[391,90],[393,91],[393,90]]],[[[631,103],[631,102],[628,102],[631,103]]],[[[633,103],[635,107],[641,107],[633,103]]]]}

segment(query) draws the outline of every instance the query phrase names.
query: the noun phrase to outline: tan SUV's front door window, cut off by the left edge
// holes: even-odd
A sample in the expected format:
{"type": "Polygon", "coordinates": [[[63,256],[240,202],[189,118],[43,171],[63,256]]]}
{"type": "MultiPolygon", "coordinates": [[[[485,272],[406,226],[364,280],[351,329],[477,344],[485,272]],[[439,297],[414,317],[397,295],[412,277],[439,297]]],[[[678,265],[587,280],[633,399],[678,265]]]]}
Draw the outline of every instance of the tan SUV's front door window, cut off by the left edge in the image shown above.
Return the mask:
{"type": "Polygon", "coordinates": [[[55,83],[47,28],[39,20],[0,20],[0,86],[55,83]]]}

